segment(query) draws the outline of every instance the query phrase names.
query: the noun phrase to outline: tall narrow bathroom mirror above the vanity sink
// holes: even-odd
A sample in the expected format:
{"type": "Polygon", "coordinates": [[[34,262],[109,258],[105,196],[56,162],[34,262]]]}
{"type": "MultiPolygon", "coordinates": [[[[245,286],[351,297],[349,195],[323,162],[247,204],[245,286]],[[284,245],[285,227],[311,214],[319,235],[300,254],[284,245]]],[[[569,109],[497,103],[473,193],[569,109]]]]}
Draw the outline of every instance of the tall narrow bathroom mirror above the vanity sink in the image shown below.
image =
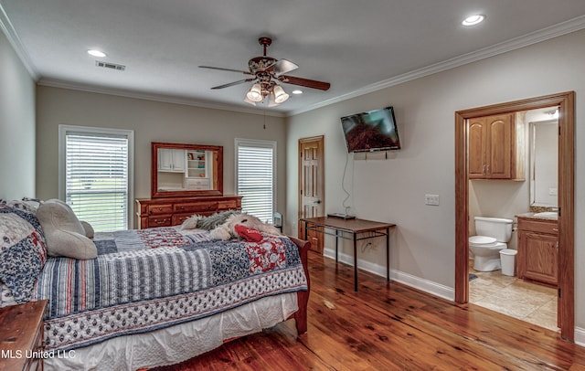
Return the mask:
{"type": "Polygon", "coordinates": [[[530,206],[558,207],[558,121],[530,122],[530,206]]]}

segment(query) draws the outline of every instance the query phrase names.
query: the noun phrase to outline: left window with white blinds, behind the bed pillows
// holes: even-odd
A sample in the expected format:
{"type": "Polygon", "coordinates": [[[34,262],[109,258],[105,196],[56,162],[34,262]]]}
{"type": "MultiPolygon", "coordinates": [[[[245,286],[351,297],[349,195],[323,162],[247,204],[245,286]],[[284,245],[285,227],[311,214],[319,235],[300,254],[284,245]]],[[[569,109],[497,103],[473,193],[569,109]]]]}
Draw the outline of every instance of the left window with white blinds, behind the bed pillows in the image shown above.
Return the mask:
{"type": "Polygon", "coordinates": [[[132,228],[133,131],[59,125],[59,198],[96,232],[132,228]]]}

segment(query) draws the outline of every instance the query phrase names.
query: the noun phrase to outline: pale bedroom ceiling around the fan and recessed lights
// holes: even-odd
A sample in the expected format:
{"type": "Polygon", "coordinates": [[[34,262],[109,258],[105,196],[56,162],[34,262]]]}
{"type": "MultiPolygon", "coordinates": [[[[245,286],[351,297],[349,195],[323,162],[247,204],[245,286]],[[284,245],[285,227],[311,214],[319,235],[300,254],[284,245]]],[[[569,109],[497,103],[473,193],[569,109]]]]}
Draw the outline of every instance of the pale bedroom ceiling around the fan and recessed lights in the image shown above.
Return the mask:
{"type": "MultiPolygon", "coordinates": [[[[585,28],[585,1],[0,0],[0,27],[41,85],[233,111],[291,115],[585,28]],[[465,16],[483,14],[478,26],[465,16]],[[243,101],[247,70],[268,55],[289,75],[331,83],[280,106],[243,101]],[[105,58],[86,53],[98,48],[105,58]],[[95,61],[125,70],[96,67],[95,61]]],[[[295,88],[282,84],[287,92],[295,88]]],[[[391,102],[388,102],[391,103],[391,102]]]]}

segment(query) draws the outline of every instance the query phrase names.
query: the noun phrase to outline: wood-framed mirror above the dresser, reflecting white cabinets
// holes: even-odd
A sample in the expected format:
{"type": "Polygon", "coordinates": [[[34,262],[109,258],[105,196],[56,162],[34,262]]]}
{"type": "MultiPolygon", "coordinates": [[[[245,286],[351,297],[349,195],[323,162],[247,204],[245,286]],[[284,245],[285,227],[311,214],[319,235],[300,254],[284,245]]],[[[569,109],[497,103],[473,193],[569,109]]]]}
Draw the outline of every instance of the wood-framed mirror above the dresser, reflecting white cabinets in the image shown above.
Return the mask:
{"type": "Polygon", "coordinates": [[[223,195],[223,147],[152,143],[151,196],[223,195]]]}

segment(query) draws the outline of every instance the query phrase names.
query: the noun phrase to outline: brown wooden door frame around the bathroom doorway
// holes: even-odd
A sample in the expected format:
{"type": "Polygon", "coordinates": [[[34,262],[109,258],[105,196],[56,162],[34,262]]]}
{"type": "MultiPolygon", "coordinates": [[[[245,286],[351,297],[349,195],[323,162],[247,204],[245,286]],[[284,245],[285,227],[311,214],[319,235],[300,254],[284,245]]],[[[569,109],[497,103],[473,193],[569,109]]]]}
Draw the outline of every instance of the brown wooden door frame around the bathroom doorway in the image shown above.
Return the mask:
{"type": "Polygon", "coordinates": [[[558,106],[558,318],[560,335],[575,336],[575,92],[455,112],[455,302],[469,301],[469,168],[467,120],[558,106]]]}

